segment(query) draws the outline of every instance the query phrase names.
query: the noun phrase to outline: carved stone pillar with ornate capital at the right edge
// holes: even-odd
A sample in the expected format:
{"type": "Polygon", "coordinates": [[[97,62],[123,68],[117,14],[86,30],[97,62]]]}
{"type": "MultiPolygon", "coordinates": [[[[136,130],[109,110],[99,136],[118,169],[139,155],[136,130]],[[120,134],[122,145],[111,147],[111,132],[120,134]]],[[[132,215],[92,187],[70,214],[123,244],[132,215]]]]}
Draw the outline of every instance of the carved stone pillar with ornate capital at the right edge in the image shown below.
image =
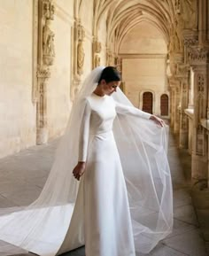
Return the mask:
{"type": "Polygon", "coordinates": [[[207,137],[201,120],[207,119],[208,50],[192,47],[188,60],[194,71],[194,121],[191,175],[195,180],[207,180],[207,137]]]}

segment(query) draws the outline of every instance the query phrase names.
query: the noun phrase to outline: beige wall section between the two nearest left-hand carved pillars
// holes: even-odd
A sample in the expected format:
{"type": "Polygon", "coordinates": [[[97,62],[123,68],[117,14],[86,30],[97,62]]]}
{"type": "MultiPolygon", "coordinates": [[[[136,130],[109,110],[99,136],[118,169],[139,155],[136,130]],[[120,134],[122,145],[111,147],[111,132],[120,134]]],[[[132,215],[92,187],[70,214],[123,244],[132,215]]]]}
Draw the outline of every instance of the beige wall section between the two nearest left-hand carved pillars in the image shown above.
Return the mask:
{"type": "Polygon", "coordinates": [[[70,11],[73,8],[73,1],[57,1],[57,12],[52,22],[52,30],[55,33],[56,58],[54,65],[51,66],[51,77],[48,81],[47,92],[47,116],[50,138],[63,133],[70,112],[70,87],[72,81],[71,45],[73,43],[72,29],[74,26],[74,19],[70,11]],[[70,2],[72,2],[71,5],[69,4],[70,2]]]}

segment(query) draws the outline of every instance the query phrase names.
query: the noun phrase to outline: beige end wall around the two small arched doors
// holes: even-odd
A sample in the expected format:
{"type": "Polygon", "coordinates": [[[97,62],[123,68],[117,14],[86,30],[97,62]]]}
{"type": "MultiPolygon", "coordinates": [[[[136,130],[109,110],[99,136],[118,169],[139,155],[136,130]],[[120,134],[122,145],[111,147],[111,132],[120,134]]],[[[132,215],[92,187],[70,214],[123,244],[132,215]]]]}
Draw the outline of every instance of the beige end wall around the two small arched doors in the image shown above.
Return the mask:
{"type": "Polygon", "coordinates": [[[126,94],[139,108],[143,106],[143,92],[153,95],[153,113],[160,114],[160,96],[166,91],[165,58],[124,58],[122,78],[126,94]]]}

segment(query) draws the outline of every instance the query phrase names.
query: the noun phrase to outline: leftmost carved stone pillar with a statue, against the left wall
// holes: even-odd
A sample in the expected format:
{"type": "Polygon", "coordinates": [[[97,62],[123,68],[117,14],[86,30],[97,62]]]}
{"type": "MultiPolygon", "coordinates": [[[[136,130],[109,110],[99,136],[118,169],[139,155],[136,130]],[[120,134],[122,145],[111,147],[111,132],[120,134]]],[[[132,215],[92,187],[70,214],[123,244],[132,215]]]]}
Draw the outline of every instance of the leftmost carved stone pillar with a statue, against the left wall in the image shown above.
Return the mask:
{"type": "Polygon", "coordinates": [[[54,4],[51,0],[41,0],[38,4],[38,58],[36,83],[36,144],[48,142],[47,127],[47,81],[50,66],[55,58],[54,32],[51,21],[54,19],[54,4]]]}

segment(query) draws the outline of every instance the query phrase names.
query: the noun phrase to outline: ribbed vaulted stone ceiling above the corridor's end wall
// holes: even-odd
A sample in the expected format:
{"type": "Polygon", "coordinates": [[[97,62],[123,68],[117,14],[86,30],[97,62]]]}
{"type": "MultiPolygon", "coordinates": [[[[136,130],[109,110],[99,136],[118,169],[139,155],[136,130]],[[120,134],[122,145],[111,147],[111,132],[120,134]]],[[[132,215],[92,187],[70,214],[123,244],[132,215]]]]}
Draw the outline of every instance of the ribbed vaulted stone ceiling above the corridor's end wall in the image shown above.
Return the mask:
{"type": "Polygon", "coordinates": [[[169,42],[174,24],[173,0],[95,0],[93,35],[97,35],[102,17],[107,20],[107,43],[113,42],[118,52],[125,35],[142,21],[157,27],[169,42]]]}

